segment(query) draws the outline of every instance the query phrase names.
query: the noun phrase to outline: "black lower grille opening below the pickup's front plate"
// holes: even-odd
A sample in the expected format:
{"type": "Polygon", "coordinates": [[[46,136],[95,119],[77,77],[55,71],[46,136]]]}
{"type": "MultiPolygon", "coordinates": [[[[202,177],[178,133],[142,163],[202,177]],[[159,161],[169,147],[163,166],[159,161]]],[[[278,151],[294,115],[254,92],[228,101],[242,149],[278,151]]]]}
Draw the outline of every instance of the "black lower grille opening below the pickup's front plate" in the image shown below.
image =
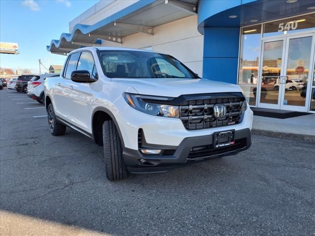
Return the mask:
{"type": "Polygon", "coordinates": [[[246,138],[235,140],[235,144],[224,148],[213,148],[213,145],[201,146],[191,148],[188,159],[195,159],[198,157],[209,157],[216,154],[221,154],[228,151],[237,150],[246,147],[246,138]]]}

